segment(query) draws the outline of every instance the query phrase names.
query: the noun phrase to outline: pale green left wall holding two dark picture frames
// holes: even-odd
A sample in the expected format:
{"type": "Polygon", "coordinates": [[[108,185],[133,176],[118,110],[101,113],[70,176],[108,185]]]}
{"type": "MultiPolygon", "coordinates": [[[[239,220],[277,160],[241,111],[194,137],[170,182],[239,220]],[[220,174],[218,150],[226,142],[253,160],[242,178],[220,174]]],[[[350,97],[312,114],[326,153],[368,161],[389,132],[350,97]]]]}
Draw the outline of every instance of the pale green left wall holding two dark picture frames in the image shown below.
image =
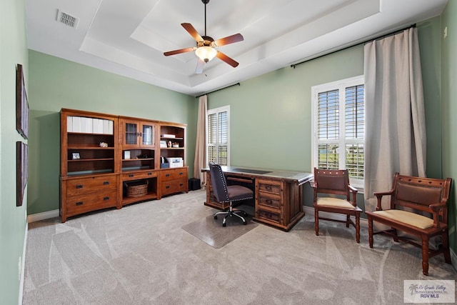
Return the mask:
{"type": "Polygon", "coordinates": [[[18,304],[26,236],[27,188],[16,207],[16,64],[29,64],[24,0],[0,1],[0,304],[18,304]]]}

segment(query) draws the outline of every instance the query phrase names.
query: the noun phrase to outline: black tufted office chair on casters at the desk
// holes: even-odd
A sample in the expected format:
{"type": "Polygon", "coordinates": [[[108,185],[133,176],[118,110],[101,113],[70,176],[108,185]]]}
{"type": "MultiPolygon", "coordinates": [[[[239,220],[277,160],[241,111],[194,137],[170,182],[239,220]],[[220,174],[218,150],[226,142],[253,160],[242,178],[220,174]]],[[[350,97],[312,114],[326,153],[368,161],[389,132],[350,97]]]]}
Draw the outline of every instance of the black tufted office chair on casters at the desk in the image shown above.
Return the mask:
{"type": "Polygon", "coordinates": [[[241,185],[227,185],[226,176],[222,171],[221,166],[214,162],[209,163],[209,173],[211,176],[211,186],[213,187],[214,196],[219,203],[229,202],[229,211],[220,211],[214,214],[214,219],[217,219],[218,215],[224,214],[224,220],[222,226],[226,226],[227,217],[238,216],[246,224],[246,219],[239,214],[246,216],[246,212],[242,210],[233,209],[233,201],[240,201],[244,199],[253,199],[253,191],[248,189],[246,186],[241,185]]]}

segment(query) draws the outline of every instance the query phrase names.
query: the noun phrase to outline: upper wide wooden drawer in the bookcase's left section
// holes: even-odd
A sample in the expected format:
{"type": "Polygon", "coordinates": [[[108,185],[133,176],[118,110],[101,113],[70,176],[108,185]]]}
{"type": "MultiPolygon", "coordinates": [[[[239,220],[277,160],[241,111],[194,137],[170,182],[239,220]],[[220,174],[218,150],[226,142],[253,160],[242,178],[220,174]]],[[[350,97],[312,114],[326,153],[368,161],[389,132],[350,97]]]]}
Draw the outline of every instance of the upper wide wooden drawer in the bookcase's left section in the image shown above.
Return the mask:
{"type": "Polygon", "coordinates": [[[66,181],[66,196],[116,189],[116,176],[91,176],[66,181]]]}

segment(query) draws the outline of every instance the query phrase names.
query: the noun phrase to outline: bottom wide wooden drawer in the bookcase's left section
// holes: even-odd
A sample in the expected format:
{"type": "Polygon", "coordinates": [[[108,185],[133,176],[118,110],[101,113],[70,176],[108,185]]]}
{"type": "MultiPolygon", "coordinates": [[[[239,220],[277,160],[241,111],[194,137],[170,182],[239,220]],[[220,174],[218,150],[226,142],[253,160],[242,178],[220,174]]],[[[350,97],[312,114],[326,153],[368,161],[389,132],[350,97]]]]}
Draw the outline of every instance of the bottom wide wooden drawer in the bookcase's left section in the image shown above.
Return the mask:
{"type": "Polygon", "coordinates": [[[116,189],[112,191],[100,191],[94,194],[83,196],[71,196],[66,199],[67,216],[94,211],[97,209],[106,209],[116,206],[116,189]]]}

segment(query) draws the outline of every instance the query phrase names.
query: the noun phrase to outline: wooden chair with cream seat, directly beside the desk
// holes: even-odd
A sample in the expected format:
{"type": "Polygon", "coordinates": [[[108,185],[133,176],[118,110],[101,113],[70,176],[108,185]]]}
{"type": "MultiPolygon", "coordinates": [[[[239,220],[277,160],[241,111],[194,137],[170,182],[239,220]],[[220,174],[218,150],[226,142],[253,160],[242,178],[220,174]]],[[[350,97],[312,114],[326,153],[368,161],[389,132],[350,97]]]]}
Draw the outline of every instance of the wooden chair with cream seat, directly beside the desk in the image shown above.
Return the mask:
{"type": "Polygon", "coordinates": [[[357,189],[349,184],[349,174],[346,169],[316,169],[314,168],[314,226],[319,235],[319,219],[338,221],[352,224],[356,228],[356,241],[360,243],[360,214],[362,210],[356,204],[357,189]],[[343,198],[323,197],[319,194],[333,194],[343,198]],[[352,194],[352,199],[351,199],[352,194]],[[319,211],[346,214],[346,221],[319,217],[319,211]],[[351,216],[354,216],[354,224],[351,216]]]}

